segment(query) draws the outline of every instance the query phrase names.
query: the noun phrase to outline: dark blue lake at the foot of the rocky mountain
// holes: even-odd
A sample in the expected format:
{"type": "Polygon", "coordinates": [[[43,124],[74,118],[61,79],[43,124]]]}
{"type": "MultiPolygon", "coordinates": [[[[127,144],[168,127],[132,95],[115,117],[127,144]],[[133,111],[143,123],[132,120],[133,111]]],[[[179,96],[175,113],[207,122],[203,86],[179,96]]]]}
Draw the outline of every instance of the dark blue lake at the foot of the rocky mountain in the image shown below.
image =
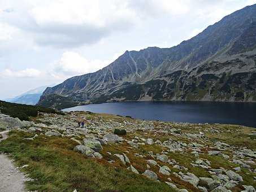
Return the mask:
{"type": "Polygon", "coordinates": [[[120,102],[89,104],[63,111],[91,111],[145,120],[238,124],[256,128],[256,103],[120,102]]]}

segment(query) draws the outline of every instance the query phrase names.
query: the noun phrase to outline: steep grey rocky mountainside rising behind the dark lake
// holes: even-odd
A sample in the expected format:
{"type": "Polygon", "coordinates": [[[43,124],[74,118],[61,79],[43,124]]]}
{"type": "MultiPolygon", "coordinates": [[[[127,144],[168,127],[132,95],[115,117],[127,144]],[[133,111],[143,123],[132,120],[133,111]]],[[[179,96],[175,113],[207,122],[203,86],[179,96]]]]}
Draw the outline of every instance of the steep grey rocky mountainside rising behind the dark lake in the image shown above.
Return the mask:
{"type": "Polygon", "coordinates": [[[253,5],[175,47],[126,51],[95,73],[47,88],[38,104],[63,108],[85,102],[152,99],[256,101],[255,58],[253,5]]]}

